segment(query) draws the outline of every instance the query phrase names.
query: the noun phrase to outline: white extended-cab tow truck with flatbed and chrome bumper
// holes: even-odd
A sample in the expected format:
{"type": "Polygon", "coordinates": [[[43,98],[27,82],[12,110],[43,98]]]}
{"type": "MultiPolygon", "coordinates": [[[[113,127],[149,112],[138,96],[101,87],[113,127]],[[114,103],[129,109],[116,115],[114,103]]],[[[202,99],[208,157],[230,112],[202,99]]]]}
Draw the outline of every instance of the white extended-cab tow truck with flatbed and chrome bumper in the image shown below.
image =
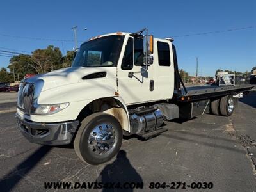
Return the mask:
{"type": "Polygon", "coordinates": [[[166,131],[164,120],[232,115],[237,97],[253,86],[186,88],[172,41],[145,28],[84,42],[72,67],[20,84],[20,132],[32,143],[74,143],[80,159],[101,164],[120,150],[123,135],[151,138],[166,131]]]}

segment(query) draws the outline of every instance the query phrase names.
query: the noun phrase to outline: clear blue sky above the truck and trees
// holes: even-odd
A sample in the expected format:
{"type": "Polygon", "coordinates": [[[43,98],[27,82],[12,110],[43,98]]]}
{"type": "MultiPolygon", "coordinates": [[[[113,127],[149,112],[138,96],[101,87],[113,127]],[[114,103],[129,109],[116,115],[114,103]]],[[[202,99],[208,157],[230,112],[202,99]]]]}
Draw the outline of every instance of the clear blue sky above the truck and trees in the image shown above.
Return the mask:
{"type": "MultiPolygon", "coordinates": [[[[200,76],[214,76],[218,68],[244,72],[256,66],[253,0],[1,1],[0,50],[29,53],[54,45],[65,54],[74,47],[72,26],[78,26],[79,44],[92,36],[145,27],[157,38],[173,37],[179,68],[191,76],[196,57],[200,76]],[[230,30],[237,28],[246,29],[230,30]],[[202,34],[212,31],[226,32],[202,34]]],[[[9,60],[0,54],[0,67],[9,60]]]]}

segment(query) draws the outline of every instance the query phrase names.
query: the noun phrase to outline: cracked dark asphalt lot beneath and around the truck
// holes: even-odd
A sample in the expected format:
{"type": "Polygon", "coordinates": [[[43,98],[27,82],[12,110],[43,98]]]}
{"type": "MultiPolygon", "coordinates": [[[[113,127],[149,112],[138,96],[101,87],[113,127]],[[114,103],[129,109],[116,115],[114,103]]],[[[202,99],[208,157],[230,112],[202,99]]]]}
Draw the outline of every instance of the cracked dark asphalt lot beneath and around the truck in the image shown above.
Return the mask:
{"type": "MultiPolygon", "coordinates": [[[[0,98],[8,100],[8,94],[0,98]]],[[[29,143],[17,130],[14,108],[15,102],[0,104],[0,191],[45,191],[44,182],[116,180],[143,181],[143,191],[150,190],[150,182],[212,182],[211,190],[200,191],[256,191],[256,92],[241,99],[228,118],[206,114],[165,122],[168,131],[147,141],[125,138],[122,152],[99,166],[83,163],[70,146],[29,143]]]]}

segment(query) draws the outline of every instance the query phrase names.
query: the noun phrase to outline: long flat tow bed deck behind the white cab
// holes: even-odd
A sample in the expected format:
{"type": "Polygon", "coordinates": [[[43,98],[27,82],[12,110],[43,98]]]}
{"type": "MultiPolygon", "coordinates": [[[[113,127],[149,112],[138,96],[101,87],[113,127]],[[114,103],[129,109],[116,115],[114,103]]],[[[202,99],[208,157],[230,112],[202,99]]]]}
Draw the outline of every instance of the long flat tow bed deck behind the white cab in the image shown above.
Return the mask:
{"type": "Polygon", "coordinates": [[[186,97],[185,100],[180,101],[193,101],[210,99],[213,97],[220,97],[227,95],[227,93],[239,93],[246,92],[253,88],[252,84],[237,84],[237,85],[202,85],[202,86],[188,86],[186,87],[187,92],[182,88],[182,97],[186,97]],[[189,98],[189,99],[188,99],[189,98]]]}

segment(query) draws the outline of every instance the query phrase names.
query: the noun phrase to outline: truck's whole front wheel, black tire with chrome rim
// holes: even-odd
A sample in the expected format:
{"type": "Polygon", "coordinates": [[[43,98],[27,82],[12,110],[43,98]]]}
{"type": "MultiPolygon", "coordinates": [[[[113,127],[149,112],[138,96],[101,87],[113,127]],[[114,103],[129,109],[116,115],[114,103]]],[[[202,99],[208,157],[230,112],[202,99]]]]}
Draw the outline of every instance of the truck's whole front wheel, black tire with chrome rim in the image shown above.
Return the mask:
{"type": "Polygon", "coordinates": [[[93,113],[81,122],[74,140],[74,148],[82,161],[93,165],[102,164],[118,153],[122,136],[122,127],[114,116],[93,113]]]}

